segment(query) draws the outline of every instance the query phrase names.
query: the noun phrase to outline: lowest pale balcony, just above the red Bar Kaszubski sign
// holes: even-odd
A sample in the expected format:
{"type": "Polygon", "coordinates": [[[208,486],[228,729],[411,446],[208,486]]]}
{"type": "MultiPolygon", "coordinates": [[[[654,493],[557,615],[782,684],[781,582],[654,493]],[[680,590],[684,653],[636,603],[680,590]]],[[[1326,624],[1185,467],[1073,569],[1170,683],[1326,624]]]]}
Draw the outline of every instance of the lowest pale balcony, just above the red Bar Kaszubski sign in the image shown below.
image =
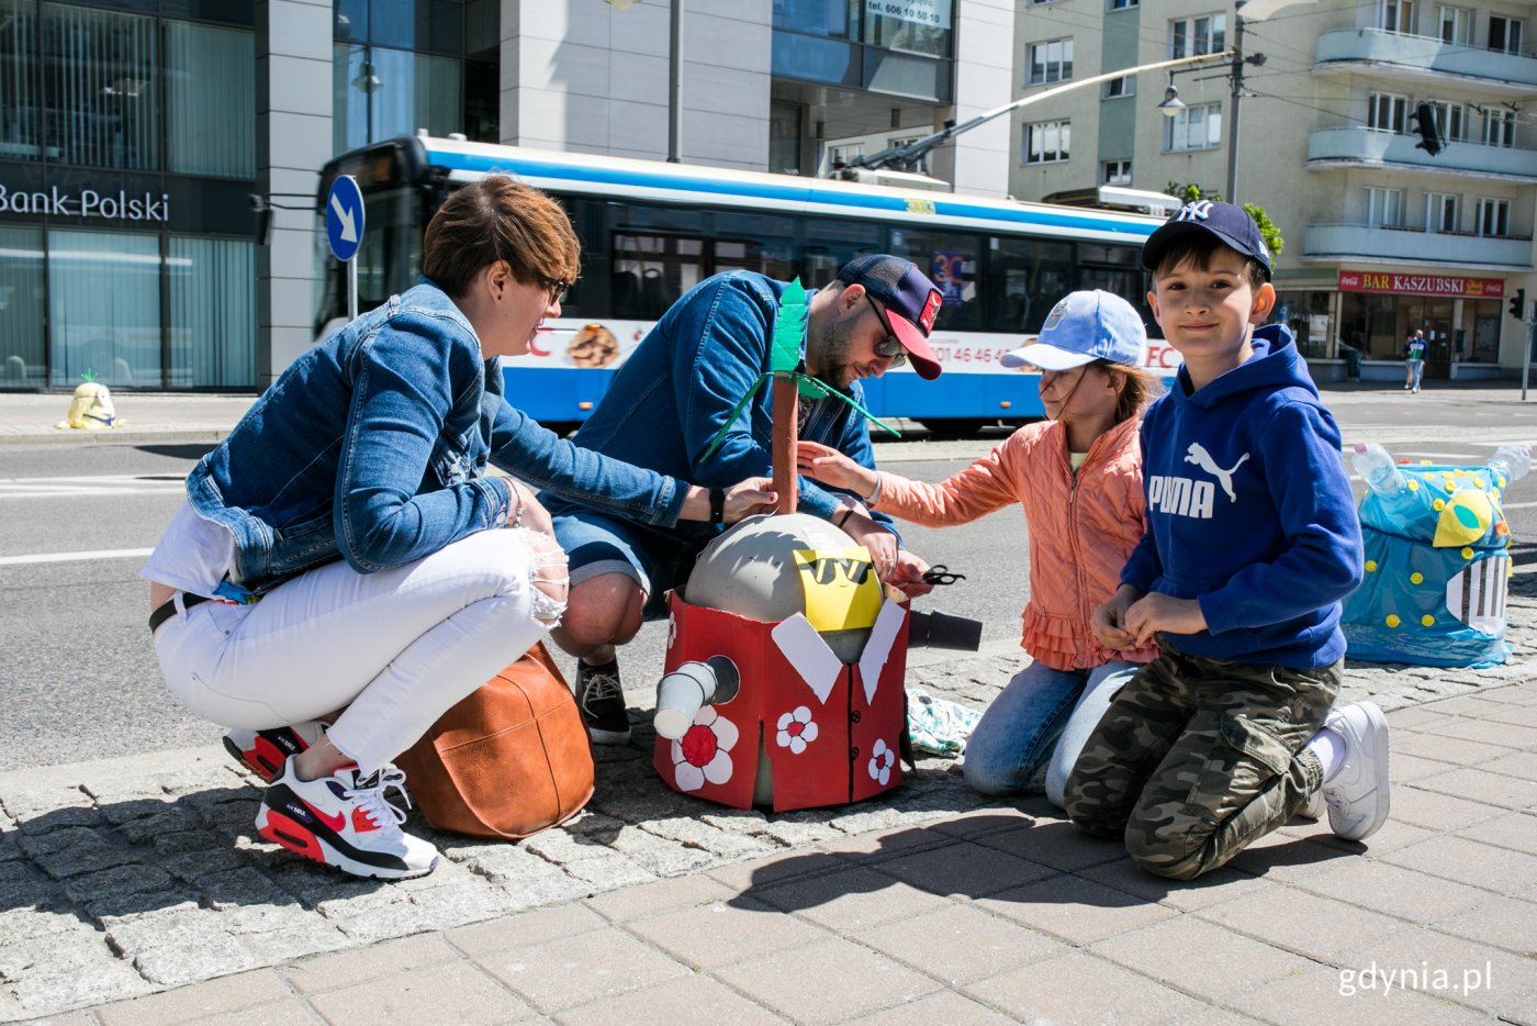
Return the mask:
{"type": "Polygon", "coordinates": [[[1422,228],[1308,225],[1302,242],[1302,260],[1531,271],[1532,240],[1512,235],[1426,232],[1422,228]]]}

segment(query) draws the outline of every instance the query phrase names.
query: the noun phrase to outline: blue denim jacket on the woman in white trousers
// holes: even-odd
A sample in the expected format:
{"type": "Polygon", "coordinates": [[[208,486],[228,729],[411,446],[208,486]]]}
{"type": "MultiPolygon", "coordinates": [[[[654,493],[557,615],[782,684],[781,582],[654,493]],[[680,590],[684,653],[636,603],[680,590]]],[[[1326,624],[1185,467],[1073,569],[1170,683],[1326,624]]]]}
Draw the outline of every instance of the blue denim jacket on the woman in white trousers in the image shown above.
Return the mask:
{"type": "Polygon", "coordinates": [[[469,320],[423,278],[295,360],[188,477],[200,517],[235,537],[255,592],[344,558],[360,574],[506,523],[535,488],[670,526],[687,488],[578,449],[503,397],[469,320]]]}

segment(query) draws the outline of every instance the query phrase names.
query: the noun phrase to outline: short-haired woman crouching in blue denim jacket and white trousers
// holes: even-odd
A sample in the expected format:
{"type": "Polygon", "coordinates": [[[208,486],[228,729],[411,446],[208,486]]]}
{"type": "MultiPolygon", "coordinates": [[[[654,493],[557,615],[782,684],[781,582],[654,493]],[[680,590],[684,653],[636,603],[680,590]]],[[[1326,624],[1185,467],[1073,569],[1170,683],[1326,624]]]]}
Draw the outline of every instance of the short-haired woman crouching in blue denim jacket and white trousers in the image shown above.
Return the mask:
{"type": "Polygon", "coordinates": [[[427,226],[426,278],[300,357],[188,477],[143,571],[155,652],[271,781],[267,840],[366,877],[437,864],[384,798],[404,792],[389,761],[566,609],[549,514],[489,463],[653,525],[773,500],[579,449],[507,405],[496,357],[527,352],[578,266],[549,197],[460,189],[427,226]]]}

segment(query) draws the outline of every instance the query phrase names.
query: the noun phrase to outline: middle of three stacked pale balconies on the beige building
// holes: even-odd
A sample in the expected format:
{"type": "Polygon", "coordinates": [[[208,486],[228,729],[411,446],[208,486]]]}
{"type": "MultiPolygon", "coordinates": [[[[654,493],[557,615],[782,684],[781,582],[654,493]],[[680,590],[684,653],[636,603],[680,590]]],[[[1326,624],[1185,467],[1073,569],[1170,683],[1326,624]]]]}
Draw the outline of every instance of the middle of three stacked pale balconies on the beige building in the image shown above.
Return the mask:
{"type": "Polygon", "coordinates": [[[1537,151],[1456,140],[1431,157],[1416,148],[1417,142],[1419,135],[1397,135],[1373,128],[1320,128],[1308,134],[1308,171],[1388,168],[1491,182],[1537,180],[1537,151]]]}

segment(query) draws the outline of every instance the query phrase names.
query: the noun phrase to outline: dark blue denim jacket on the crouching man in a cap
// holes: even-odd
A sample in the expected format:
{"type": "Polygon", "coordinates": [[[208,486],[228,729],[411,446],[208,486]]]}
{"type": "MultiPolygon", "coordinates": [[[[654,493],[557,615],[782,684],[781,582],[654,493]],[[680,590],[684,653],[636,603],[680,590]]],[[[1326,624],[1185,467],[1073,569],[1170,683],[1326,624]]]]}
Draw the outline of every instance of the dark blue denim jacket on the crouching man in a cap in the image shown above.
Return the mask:
{"type": "MultiPolygon", "coordinates": [[[[785,286],[752,271],[727,271],[692,288],[619,366],[598,409],[576,432],[576,445],[712,488],[772,474],[770,385],[738,414],[709,458],[704,451],[758,375],[768,371],[768,343],[785,286]]],[[[858,381],[848,394],[864,405],[858,381]]],[[[813,403],[799,437],[875,466],[864,417],[836,398],[813,403]]],[[[839,489],[807,477],[798,483],[801,512],[832,517],[839,489]]],[[[891,528],[890,517],[873,517],[891,528]]],[[[684,538],[715,531],[702,523],[675,528],[684,538]]]]}

